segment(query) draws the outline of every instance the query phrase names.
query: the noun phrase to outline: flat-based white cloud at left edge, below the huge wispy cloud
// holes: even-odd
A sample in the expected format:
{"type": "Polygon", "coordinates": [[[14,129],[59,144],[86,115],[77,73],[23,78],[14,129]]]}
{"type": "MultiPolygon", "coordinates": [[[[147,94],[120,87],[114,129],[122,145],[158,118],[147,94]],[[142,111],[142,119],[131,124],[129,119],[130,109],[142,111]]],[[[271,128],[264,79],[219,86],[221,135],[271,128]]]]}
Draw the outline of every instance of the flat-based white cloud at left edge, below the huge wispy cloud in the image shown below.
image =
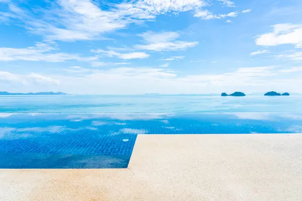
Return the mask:
{"type": "Polygon", "coordinates": [[[45,43],[36,43],[33,47],[27,48],[0,48],[0,61],[14,61],[14,60],[26,60],[26,61],[46,61],[46,62],[62,62],[66,60],[78,60],[78,61],[91,61],[97,58],[95,57],[81,57],[77,54],[69,53],[50,53],[53,50],[57,50],[45,43]]]}

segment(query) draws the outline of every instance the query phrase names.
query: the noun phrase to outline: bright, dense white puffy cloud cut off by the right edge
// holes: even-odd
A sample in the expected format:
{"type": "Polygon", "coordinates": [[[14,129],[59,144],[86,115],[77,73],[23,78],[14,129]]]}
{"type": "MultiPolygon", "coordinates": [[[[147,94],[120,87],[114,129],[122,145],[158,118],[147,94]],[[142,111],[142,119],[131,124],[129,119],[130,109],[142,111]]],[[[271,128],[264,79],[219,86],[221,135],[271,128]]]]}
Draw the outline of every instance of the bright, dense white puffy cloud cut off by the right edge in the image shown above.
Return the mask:
{"type": "Polygon", "coordinates": [[[302,48],[302,24],[277,24],[273,26],[273,32],[257,36],[256,45],[277,46],[292,44],[296,48],[302,48]]]}

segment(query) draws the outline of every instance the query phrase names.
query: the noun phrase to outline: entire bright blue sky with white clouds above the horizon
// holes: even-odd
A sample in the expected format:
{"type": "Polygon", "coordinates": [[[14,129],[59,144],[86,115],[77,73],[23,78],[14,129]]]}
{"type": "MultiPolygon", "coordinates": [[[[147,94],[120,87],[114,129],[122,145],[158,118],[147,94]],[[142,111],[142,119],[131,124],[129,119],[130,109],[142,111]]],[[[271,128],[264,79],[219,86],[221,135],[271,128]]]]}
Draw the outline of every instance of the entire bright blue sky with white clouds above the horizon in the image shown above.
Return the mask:
{"type": "Polygon", "coordinates": [[[302,92],[300,0],[0,0],[0,91],[302,92]]]}

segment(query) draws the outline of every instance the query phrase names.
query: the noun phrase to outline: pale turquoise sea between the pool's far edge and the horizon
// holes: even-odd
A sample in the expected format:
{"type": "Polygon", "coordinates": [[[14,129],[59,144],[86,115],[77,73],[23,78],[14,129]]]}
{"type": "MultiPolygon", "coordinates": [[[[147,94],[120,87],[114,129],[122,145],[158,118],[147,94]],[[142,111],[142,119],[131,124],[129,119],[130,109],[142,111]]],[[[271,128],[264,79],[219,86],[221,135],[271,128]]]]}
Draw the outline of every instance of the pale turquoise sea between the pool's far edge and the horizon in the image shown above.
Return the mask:
{"type": "Polygon", "coordinates": [[[0,113],[302,112],[302,95],[8,95],[0,113]]]}

